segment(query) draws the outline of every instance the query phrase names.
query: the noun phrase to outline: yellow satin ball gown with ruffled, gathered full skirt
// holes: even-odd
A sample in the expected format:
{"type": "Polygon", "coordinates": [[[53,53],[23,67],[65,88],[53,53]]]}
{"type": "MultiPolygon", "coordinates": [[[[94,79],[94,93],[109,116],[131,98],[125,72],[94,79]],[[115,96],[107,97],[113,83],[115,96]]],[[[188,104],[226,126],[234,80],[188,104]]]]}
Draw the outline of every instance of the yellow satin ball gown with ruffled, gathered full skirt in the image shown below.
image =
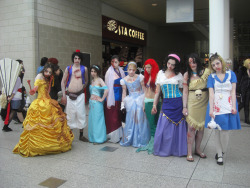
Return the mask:
{"type": "Polygon", "coordinates": [[[50,98],[48,82],[37,79],[35,86],[38,86],[38,97],[28,109],[24,130],[13,152],[33,157],[70,150],[74,135],[67,125],[66,114],[50,98]]]}

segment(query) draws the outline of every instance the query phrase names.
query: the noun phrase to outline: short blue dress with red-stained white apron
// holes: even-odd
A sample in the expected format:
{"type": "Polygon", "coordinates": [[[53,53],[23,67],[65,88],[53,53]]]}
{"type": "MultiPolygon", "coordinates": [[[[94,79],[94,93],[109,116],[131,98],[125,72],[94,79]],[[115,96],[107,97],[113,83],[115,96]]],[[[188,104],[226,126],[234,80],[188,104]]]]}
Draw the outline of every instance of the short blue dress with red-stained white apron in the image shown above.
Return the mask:
{"type": "MultiPolygon", "coordinates": [[[[234,72],[232,71],[227,71],[225,74],[225,78],[223,81],[220,81],[220,79],[217,77],[216,74],[211,74],[208,77],[207,81],[207,87],[208,88],[213,88],[215,92],[215,102],[214,102],[214,111],[217,113],[215,115],[215,122],[220,125],[222,130],[237,130],[241,129],[240,125],[240,116],[239,113],[237,114],[232,114],[231,113],[231,108],[230,104],[231,102],[231,95],[230,92],[232,90],[232,84],[231,83],[236,83],[237,78],[234,72]],[[221,98],[218,98],[216,100],[216,95],[221,95],[223,94],[221,98]],[[226,98],[228,93],[228,99],[226,98]],[[224,102],[224,98],[226,98],[224,102]],[[224,104],[228,101],[229,104],[224,104]],[[223,103],[222,103],[223,102],[223,103]],[[229,105],[229,109],[227,109],[227,106],[229,105]],[[220,113],[221,111],[224,111],[223,113],[220,113]]],[[[209,116],[209,103],[207,105],[207,112],[206,112],[206,119],[205,119],[205,127],[207,128],[207,124],[211,121],[211,117],[209,116]]],[[[236,100],[236,109],[238,111],[238,103],[236,100]]]]}

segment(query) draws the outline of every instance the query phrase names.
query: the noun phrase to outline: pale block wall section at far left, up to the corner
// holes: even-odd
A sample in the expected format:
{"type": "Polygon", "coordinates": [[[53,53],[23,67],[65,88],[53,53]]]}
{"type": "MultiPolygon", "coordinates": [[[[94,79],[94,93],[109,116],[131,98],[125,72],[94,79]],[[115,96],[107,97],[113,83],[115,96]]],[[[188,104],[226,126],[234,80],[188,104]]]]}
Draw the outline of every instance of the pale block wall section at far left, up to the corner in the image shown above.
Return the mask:
{"type": "Polygon", "coordinates": [[[22,59],[26,80],[35,62],[34,0],[0,1],[0,59],[22,59]]]}

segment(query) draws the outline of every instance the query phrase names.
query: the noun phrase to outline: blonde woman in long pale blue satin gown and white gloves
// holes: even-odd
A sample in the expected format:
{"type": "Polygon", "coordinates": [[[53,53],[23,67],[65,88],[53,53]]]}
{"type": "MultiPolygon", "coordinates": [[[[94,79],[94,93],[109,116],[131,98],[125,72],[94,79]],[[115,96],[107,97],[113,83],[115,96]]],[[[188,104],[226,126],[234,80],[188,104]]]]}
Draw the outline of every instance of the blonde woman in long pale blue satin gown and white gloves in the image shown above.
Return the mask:
{"type": "Polygon", "coordinates": [[[125,127],[120,141],[121,146],[144,147],[150,139],[150,129],[143,111],[144,105],[144,82],[143,75],[135,74],[136,63],[128,64],[128,76],[121,80],[122,103],[121,109],[126,108],[125,127]],[[127,89],[129,95],[127,95],[127,89]]]}

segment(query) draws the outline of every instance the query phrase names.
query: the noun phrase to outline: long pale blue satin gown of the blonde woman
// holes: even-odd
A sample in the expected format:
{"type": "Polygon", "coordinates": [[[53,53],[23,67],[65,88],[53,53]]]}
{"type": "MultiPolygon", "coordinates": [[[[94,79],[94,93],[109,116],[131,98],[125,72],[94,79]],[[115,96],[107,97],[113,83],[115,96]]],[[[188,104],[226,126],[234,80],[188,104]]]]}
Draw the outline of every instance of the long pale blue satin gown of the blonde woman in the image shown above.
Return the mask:
{"type": "Polygon", "coordinates": [[[144,93],[140,83],[140,76],[133,83],[122,81],[125,82],[129,95],[124,99],[126,121],[120,145],[144,147],[150,139],[150,128],[146,114],[143,111],[144,93]]]}

